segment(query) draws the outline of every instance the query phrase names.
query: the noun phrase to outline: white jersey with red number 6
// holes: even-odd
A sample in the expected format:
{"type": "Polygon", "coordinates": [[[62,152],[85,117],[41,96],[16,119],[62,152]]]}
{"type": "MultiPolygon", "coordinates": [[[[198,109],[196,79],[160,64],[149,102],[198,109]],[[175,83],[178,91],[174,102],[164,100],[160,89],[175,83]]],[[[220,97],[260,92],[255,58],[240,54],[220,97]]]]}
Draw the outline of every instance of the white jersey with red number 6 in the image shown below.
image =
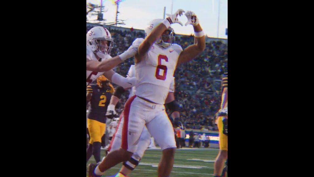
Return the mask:
{"type": "MultiPolygon", "coordinates": [[[[138,47],[143,40],[137,38],[132,45],[138,47]]],[[[136,95],[165,104],[181,52],[178,44],[172,44],[167,49],[153,44],[143,60],[135,64],[136,95]]]]}

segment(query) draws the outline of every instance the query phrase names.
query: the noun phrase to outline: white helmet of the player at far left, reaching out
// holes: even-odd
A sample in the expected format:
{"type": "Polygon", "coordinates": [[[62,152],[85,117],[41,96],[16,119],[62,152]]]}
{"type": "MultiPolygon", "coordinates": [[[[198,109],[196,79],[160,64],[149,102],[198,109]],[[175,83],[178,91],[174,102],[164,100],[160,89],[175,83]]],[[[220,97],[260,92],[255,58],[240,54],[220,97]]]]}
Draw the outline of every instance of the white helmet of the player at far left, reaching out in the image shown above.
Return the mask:
{"type": "Polygon", "coordinates": [[[105,58],[104,56],[111,52],[113,40],[109,30],[102,26],[95,26],[86,34],[86,45],[100,58],[105,58]],[[101,45],[103,40],[107,41],[107,46],[101,45]]]}

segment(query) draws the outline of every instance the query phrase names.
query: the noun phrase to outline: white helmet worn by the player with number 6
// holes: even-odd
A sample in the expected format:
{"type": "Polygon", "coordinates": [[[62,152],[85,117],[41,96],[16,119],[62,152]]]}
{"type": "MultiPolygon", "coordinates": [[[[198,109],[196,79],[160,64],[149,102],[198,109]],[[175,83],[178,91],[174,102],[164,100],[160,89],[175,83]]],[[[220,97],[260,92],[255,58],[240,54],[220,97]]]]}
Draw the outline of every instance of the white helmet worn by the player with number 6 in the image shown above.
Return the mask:
{"type": "MultiPolygon", "coordinates": [[[[144,29],[145,37],[147,37],[153,31],[153,29],[156,26],[158,26],[162,21],[163,19],[155,19],[150,21],[147,24],[146,28],[144,29]]],[[[169,31],[169,34],[161,35],[161,38],[157,39],[157,41],[155,42],[156,44],[162,46],[163,48],[168,48],[174,42],[173,29],[169,26],[169,28],[166,31],[169,31]]]]}

